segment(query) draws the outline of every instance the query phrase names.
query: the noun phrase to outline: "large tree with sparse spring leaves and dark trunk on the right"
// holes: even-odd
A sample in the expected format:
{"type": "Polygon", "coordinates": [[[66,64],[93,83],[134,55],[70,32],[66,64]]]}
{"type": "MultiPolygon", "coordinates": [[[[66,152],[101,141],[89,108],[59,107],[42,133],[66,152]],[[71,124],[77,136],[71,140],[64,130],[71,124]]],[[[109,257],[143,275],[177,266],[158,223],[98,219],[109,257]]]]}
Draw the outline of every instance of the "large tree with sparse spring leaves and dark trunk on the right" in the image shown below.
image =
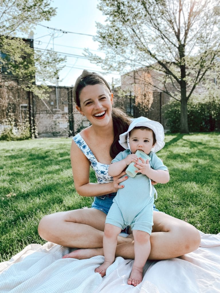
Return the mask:
{"type": "Polygon", "coordinates": [[[220,56],[220,1],[100,0],[98,8],[106,24],[97,23],[94,40],[106,57],[87,55],[106,71],[158,72],[152,85],[180,102],[180,131],[188,133],[187,102],[220,56]]]}

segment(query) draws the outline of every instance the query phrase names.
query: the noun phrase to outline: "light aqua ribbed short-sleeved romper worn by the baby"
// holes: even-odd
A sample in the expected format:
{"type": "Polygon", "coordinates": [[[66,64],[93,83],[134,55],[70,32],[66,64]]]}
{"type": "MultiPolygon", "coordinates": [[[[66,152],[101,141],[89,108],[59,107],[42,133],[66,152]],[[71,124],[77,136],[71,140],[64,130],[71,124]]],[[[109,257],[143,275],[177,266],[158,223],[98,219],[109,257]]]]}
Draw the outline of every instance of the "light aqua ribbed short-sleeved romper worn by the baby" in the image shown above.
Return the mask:
{"type": "MultiPolygon", "coordinates": [[[[125,159],[130,150],[120,152],[112,163],[125,159]]],[[[149,154],[150,167],[154,170],[168,170],[154,152],[149,154]]],[[[113,204],[106,217],[106,223],[124,229],[131,226],[132,230],[145,231],[151,234],[153,226],[154,188],[150,188],[151,181],[146,175],[138,173],[135,177],[121,183],[124,188],[118,190],[113,204]],[[150,194],[150,190],[152,193],[150,194]]]]}

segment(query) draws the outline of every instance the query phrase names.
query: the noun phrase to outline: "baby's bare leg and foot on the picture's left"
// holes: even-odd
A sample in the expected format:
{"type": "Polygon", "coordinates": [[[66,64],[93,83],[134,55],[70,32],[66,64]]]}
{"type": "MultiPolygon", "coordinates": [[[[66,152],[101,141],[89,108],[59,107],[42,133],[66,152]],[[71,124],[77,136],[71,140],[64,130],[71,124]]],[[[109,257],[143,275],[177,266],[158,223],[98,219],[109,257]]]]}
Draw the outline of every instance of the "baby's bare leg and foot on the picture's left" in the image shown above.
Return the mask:
{"type": "Polygon", "coordinates": [[[115,250],[117,246],[117,237],[121,232],[121,228],[111,224],[105,224],[103,249],[105,261],[102,265],[95,269],[102,277],[105,276],[107,268],[115,261],[115,250]]]}

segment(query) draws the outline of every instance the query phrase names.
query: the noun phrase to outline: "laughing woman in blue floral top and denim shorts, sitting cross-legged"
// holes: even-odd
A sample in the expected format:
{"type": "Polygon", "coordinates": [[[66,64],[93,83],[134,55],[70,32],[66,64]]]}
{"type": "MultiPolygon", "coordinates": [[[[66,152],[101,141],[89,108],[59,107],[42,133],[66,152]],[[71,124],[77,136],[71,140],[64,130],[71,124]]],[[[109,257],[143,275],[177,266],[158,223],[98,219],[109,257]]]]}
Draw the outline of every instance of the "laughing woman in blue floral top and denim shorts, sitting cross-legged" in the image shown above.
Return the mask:
{"type": "MultiPolygon", "coordinates": [[[[83,71],[74,87],[77,110],[87,117],[91,125],[77,134],[71,145],[71,164],[75,188],[81,196],[92,196],[92,208],[57,212],[41,219],[40,236],[50,242],[75,250],[64,257],[78,259],[104,255],[102,241],[105,218],[119,183],[126,180],[125,172],[112,178],[107,169],[111,160],[122,151],[119,134],[127,130],[130,120],[124,113],[112,109],[113,94],[108,83],[98,74],[83,71]],[[89,182],[90,165],[97,175],[97,183],[89,182]],[[101,184],[100,184],[101,183],[101,184]],[[105,183],[105,184],[102,184],[105,183]]],[[[197,229],[174,217],[153,212],[149,259],[162,260],[178,257],[199,247],[197,229]]],[[[133,237],[118,236],[116,256],[134,258],[133,237]]]]}

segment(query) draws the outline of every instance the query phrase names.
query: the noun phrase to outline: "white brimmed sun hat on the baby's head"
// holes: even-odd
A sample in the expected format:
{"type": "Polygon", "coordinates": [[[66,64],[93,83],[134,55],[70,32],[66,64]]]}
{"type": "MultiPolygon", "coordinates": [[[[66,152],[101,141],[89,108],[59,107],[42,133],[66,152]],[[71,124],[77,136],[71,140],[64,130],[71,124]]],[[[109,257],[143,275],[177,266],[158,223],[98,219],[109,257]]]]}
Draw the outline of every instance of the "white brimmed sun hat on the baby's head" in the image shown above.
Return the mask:
{"type": "Polygon", "coordinates": [[[130,145],[129,145],[129,132],[137,126],[145,126],[148,127],[150,129],[153,130],[153,132],[155,133],[155,137],[156,137],[156,143],[154,145],[154,147],[151,149],[151,151],[153,152],[157,152],[160,151],[161,149],[163,149],[165,142],[164,140],[164,130],[163,130],[163,125],[161,125],[159,122],[157,121],[153,121],[150,120],[146,117],[138,117],[136,119],[134,119],[130,126],[128,127],[128,131],[122,133],[119,135],[119,144],[121,144],[121,146],[124,149],[130,149],[130,145]]]}

